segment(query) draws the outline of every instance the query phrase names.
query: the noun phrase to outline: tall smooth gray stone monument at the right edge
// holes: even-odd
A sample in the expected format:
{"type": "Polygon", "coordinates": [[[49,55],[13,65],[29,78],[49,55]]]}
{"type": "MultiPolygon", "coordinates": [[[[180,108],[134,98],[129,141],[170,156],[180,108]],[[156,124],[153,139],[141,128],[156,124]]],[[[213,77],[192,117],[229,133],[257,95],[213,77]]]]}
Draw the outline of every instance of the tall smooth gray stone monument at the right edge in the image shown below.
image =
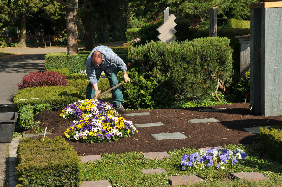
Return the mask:
{"type": "Polygon", "coordinates": [[[263,2],[251,8],[252,111],[282,115],[282,2],[263,2]]]}

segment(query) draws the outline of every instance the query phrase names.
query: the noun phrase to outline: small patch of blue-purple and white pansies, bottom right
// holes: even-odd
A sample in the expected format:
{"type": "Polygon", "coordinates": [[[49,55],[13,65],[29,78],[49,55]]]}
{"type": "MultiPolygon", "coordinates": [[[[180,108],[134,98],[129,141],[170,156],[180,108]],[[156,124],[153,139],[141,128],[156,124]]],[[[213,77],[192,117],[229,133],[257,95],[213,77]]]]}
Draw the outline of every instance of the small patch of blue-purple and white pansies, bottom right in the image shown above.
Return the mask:
{"type": "Polygon", "coordinates": [[[191,155],[184,154],[181,158],[181,169],[225,169],[225,166],[235,165],[238,160],[244,159],[246,156],[248,154],[241,149],[237,149],[235,152],[227,149],[202,149],[200,152],[191,155]]]}

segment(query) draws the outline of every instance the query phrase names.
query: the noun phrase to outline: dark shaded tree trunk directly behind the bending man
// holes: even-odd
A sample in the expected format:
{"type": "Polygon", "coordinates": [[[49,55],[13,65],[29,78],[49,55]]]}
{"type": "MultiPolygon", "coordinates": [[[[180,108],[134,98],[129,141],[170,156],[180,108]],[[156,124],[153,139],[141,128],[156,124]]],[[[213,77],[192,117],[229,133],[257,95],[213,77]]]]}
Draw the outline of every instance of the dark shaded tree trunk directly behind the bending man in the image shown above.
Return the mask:
{"type": "Polygon", "coordinates": [[[93,49],[92,9],[88,0],[84,0],[85,50],[93,49]]]}

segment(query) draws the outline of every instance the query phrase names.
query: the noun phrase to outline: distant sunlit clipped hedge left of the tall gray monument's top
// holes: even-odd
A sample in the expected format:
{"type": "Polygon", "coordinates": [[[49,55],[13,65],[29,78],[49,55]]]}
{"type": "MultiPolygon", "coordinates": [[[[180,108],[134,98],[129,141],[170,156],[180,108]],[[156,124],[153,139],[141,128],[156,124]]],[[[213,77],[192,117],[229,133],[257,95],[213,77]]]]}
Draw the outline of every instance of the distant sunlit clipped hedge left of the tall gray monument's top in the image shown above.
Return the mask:
{"type": "Polygon", "coordinates": [[[219,18],[217,19],[217,26],[227,26],[231,28],[251,28],[251,21],[219,18]]]}

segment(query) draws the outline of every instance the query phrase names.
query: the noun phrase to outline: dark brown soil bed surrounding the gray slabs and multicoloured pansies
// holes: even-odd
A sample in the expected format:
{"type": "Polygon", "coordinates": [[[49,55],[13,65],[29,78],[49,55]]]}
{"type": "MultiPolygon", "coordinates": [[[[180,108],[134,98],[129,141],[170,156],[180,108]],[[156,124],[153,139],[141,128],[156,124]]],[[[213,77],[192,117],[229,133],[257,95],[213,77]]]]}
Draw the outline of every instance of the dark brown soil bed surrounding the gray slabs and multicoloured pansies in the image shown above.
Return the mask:
{"type": "MultiPolygon", "coordinates": [[[[147,116],[122,116],[131,120],[133,124],[162,122],[163,126],[137,128],[138,133],[131,137],[107,143],[80,143],[69,141],[78,155],[95,155],[102,153],[122,153],[130,151],[158,152],[172,149],[204,148],[222,146],[227,144],[252,144],[258,141],[258,135],[248,133],[243,128],[270,126],[282,124],[282,116],[264,117],[251,114],[248,103],[234,103],[217,105],[210,108],[226,108],[220,112],[201,112],[199,109],[209,107],[195,107],[187,109],[154,109],[126,111],[124,114],[149,112],[147,116]],[[188,119],[215,118],[220,122],[191,123],[188,119]],[[181,132],[186,139],[156,140],[153,133],[181,132]]],[[[63,136],[63,132],[70,127],[73,119],[62,119],[60,111],[42,111],[34,116],[36,121],[41,121],[40,127],[51,130],[50,138],[63,136]]],[[[29,131],[30,132],[30,131],[29,131]]]]}

